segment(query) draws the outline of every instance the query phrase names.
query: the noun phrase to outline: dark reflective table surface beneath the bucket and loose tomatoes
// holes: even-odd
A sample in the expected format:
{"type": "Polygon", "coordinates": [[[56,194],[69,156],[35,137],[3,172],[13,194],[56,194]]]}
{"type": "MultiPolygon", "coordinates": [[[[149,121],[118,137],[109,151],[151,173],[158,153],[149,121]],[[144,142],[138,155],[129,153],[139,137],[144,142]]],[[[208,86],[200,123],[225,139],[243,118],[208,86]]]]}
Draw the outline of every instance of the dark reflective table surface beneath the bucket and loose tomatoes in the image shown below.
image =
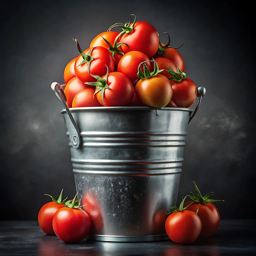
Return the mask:
{"type": "Polygon", "coordinates": [[[41,231],[36,221],[0,221],[0,255],[254,255],[256,256],[256,219],[221,220],[212,236],[180,245],[171,240],[147,243],[100,242],[83,239],[79,243],[63,243],[56,236],[41,231]]]}

